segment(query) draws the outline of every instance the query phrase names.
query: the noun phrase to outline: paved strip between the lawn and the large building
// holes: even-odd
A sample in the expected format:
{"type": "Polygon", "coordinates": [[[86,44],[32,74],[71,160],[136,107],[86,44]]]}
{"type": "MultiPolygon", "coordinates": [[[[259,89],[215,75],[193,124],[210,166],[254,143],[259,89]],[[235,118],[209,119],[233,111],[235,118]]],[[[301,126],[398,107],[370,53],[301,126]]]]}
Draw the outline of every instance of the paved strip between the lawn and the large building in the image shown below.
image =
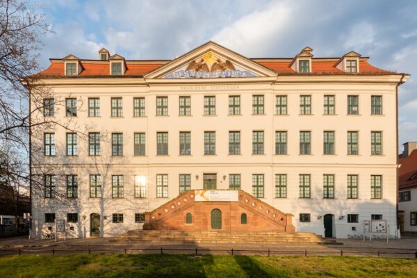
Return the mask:
{"type": "Polygon", "coordinates": [[[338,239],[338,244],[259,244],[259,243],[146,243],[113,242],[111,238],[79,238],[70,240],[29,240],[26,237],[1,238],[0,254],[70,254],[70,253],[126,253],[126,254],[260,254],[275,256],[349,255],[390,256],[414,258],[417,252],[417,237],[400,240],[338,239]],[[177,249],[177,250],[174,250],[177,249]],[[90,250],[90,251],[89,251],[90,250]]]}

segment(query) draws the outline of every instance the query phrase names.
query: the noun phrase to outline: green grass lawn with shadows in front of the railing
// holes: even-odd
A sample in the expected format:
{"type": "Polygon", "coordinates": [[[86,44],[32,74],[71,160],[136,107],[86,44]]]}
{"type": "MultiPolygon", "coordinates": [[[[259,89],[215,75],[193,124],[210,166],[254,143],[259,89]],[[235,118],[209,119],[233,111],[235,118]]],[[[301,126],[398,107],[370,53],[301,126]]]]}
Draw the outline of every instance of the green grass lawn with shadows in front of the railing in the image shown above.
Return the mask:
{"type": "Polygon", "coordinates": [[[0,277],[417,277],[417,259],[352,256],[1,256],[0,277]]]}

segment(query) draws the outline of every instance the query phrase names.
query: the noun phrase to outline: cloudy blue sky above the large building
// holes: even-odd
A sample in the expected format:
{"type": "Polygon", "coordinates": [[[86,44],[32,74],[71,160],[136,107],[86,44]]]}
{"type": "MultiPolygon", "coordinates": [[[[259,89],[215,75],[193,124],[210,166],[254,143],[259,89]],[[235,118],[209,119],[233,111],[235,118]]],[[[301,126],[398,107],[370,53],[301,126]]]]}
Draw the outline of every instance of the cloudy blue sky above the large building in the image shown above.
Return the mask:
{"type": "MultiPolygon", "coordinates": [[[[385,70],[411,74],[400,87],[400,143],[417,140],[417,1],[27,1],[54,34],[39,63],[106,47],[128,59],[171,59],[213,40],[243,56],[357,51],[385,70]]],[[[401,148],[400,148],[401,149],[401,148]]]]}

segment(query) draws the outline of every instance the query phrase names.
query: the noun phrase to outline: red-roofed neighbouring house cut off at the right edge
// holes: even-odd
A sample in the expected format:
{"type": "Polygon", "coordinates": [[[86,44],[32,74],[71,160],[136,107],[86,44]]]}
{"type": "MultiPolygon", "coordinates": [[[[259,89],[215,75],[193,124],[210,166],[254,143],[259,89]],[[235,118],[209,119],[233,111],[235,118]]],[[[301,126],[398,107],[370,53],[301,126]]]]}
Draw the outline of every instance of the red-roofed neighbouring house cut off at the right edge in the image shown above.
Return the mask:
{"type": "Polygon", "coordinates": [[[404,143],[398,163],[398,225],[402,233],[417,234],[417,142],[404,143]]]}

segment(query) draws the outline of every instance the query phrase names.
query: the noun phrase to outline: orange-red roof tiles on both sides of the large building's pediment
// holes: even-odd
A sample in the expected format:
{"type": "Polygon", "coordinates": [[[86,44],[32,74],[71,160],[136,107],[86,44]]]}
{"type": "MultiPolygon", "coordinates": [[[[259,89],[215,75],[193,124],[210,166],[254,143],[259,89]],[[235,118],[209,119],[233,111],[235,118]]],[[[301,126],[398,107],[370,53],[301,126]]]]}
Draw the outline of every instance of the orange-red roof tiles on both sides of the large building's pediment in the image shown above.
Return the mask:
{"type": "MultiPolygon", "coordinates": [[[[398,74],[387,70],[380,70],[370,65],[366,58],[359,61],[359,74],[398,74]]],[[[290,67],[291,59],[252,59],[277,74],[298,74],[290,67]]],[[[346,74],[336,68],[338,58],[313,58],[310,74],[346,74]]],[[[126,72],[124,76],[144,76],[152,70],[165,65],[169,60],[160,61],[129,61],[126,60],[126,72]]],[[[109,63],[101,60],[80,60],[83,70],[79,76],[110,76],[109,63]]],[[[60,59],[51,59],[51,65],[39,73],[42,77],[65,77],[64,63],[60,59]]],[[[76,77],[76,76],[71,76],[76,77]]]]}

